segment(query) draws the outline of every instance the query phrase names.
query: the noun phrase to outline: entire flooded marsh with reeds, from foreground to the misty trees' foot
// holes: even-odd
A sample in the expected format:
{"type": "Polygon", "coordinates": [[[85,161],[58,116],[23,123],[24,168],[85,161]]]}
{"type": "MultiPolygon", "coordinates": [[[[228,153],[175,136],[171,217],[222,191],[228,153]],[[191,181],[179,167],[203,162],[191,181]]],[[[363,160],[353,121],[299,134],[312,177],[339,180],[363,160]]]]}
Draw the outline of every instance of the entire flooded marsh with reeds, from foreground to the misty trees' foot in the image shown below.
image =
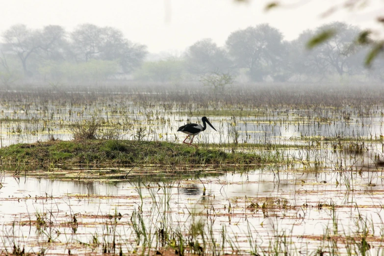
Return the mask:
{"type": "Polygon", "coordinates": [[[1,254],[384,254],[382,89],[88,91],[4,92],[1,146],[72,140],[89,120],[100,121],[99,139],[181,143],[177,128],[207,116],[218,132],[208,127],[190,154],[245,152],[260,163],[1,156],[1,254]]]}

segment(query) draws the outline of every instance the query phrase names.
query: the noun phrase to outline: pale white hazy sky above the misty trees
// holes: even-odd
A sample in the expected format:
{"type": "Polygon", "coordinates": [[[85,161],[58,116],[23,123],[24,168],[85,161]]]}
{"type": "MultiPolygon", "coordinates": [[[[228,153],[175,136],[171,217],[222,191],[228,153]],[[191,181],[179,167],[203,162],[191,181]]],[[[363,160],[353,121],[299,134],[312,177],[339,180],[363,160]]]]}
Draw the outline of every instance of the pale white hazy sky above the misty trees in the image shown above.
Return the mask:
{"type": "MultiPolygon", "coordinates": [[[[0,0],[0,32],[14,24],[30,28],[61,25],[68,31],[82,23],[113,26],[151,52],[183,51],[197,40],[212,38],[224,45],[230,32],[260,23],[279,28],[285,39],[294,39],[306,28],[330,21],[361,27],[373,26],[384,13],[383,0],[372,1],[363,11],[321,14],[347,0],[285,0],[285,7],[264,11],[271,0],[0,0]],[[381,9],[380,9],[381,8],[381,9]]],[[[284,2],[284,1],[283,1],[284,2]]]]}

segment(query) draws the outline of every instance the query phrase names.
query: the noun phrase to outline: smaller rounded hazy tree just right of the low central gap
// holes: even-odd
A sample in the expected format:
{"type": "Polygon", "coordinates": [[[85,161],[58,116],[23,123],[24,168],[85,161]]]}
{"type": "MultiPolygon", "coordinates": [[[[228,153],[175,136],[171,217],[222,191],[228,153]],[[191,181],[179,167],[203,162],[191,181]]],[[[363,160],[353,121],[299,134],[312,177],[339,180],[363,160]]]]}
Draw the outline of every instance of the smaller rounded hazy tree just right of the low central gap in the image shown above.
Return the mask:
{"type": "Polygon", "coordinates": [[[228,72],[232,66],[225,49],[206,38],[191,45],[186,52],[186,65],[190,73],[204,75],[215,71],[228,72]]]}

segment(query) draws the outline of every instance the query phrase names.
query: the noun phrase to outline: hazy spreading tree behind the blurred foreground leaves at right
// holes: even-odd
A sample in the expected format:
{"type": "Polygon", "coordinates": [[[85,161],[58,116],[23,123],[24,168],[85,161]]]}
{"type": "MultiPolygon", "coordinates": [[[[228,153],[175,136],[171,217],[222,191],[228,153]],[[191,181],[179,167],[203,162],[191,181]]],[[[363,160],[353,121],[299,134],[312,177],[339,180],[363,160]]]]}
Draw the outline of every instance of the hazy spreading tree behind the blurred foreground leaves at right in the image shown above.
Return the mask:
{"type": "Polygon", "coordinates": [[[290,42],[289,60],[292,73],[322,79],[327,75],[359,74],[364,72],[363,59],[367,52],[354,41],[359,29],[345,23],[331,23],[315,30],[306,30],[290,42]],[[317,47],[307,45],[320,31],[335,31],[335,35],[317,47]],[[337,31],[337,32],[336,32],[337,31]]]}

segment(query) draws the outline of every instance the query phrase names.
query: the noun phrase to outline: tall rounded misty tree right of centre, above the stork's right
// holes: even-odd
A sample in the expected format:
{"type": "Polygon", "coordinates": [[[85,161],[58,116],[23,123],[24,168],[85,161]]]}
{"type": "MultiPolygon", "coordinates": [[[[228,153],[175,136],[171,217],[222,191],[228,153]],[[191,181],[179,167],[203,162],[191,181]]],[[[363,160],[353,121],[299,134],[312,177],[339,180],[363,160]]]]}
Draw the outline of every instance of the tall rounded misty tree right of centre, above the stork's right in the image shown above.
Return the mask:
{"type": "Polygon", "coordinates": [[[237,67],[248,69],[254,81],[275,74],[275,68],[281,67],[282,55],[285,53],[282,33],[268,24],[232,32],[226,46],[237,67]]]}

